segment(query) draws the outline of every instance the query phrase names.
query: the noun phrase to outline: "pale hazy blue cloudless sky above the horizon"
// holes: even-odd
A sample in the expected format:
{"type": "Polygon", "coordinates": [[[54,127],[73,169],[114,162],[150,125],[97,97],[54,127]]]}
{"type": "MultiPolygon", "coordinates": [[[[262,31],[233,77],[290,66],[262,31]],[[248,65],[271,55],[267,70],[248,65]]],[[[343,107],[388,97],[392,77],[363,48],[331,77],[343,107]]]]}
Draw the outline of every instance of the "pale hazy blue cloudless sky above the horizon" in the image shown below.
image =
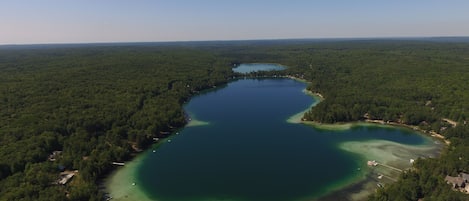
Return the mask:
{"type": "Polygon", "coordinates": [[[0,0],[0,44],[469,36],[468,0],[0,0]]]}

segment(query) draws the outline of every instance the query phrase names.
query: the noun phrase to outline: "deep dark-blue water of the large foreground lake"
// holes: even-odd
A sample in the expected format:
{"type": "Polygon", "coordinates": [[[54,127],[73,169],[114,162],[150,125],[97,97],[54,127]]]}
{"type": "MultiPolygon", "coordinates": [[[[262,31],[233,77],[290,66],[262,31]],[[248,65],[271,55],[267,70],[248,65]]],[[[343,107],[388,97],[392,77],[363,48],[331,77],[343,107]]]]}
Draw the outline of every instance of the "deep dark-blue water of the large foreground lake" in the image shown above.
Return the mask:
{"type": "Polygon", "coordinates": [[[161,201],[311,200],[368,173],[366,157],[344,151],[345,142],[433,144],[407,129],[288,123],[316,101],[305,87],[292,79],[245,79],[192,98],[186,111],[208,124],[186,127],[146,152],[138,188],[161,201]]]}

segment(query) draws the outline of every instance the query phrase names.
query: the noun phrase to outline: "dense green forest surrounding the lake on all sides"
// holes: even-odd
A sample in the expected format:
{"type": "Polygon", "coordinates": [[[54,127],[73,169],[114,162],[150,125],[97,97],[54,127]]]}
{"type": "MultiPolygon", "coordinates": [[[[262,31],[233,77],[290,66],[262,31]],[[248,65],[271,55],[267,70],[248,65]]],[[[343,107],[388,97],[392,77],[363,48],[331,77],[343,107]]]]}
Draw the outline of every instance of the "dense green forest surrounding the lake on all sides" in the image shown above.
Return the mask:
{"type": "Polygon", "coordinates": [[[370,200],[469,199],[443,180],[469,172],[467,42],[291,40],[0,47],[0,200],[102,200],[113,161],[183,126],[185,101],[249,62],[289,67],[250,76],[311,82],[325,100],[307,120],[398,122],[451,141],[370,200]],[[62,169],[78,174],[53,184],[62,169]]]}

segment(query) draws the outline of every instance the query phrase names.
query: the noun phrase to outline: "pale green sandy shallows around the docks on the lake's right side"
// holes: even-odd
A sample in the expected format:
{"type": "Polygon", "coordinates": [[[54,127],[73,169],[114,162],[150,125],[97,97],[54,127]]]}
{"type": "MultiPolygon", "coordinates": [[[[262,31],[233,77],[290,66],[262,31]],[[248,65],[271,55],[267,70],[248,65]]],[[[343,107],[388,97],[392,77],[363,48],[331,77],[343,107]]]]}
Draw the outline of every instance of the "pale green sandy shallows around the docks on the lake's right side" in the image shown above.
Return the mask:
{"type": "Polygon", "coordinates": [[[365,165],[366,179],[348,186],[320,200],[367,200],[378,183],[386,185],[395,182],[402,171],[411,167],[411,159],[436,157],[441,147],[435,145],[404,145],[386,140],[349,141],[339,148],[359,154],[364,161],[375,160],[377,166],[365,165]]]}

